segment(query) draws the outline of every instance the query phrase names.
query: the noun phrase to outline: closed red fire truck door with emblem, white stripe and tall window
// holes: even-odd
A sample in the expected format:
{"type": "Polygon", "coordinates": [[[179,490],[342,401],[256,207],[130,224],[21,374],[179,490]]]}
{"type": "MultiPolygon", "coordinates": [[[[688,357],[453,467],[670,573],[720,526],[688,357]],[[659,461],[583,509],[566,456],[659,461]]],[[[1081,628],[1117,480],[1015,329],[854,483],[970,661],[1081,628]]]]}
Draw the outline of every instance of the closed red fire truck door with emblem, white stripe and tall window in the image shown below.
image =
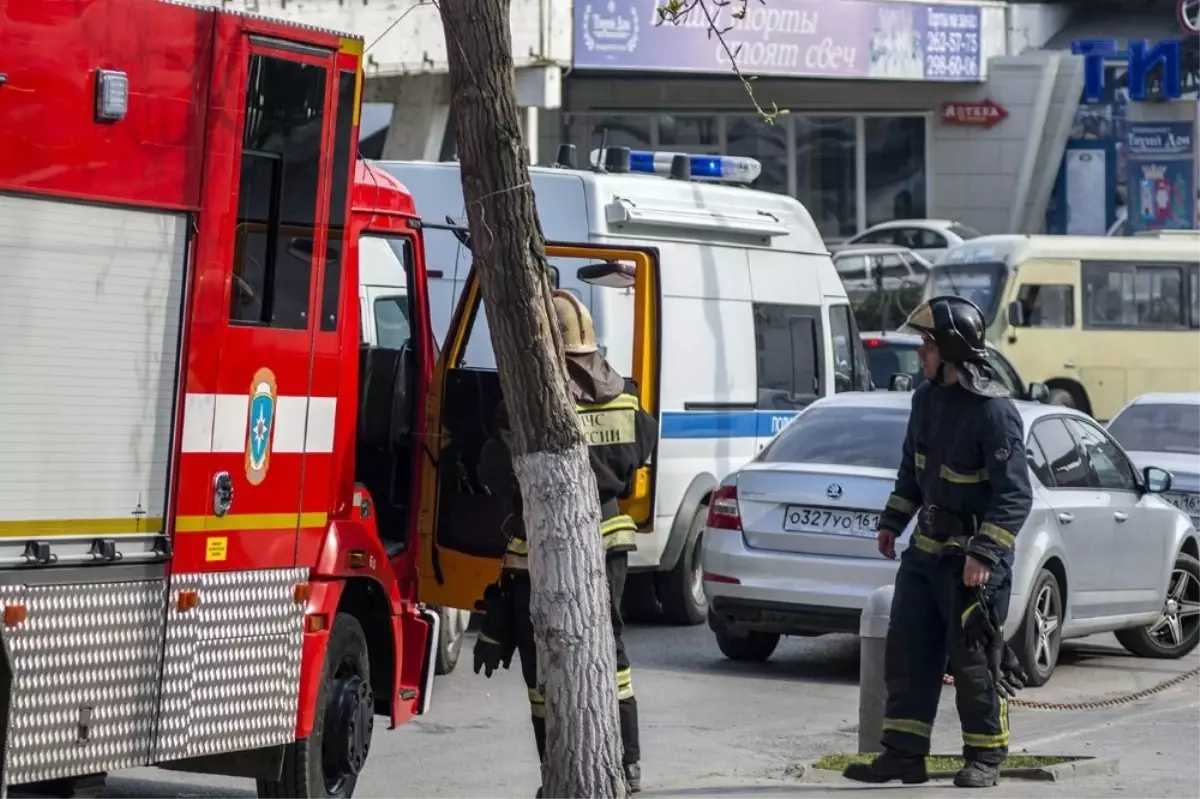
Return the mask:
{"type": "Polygon", "coordinates": [[[211,498],[200,529],[179,521],[181,531],[203,534],[180,536],[185,569],[292,567],[298,536],[323,534],[329,510],[337,346],[325,352],[334,334],[320,278],[330,271],[336,288],[350,156],[349,131],[335,128],[353,125],[353,109],[338,113],[338,103],[346,74],[354,101],[356,72],[340,72],[336,52],[259,36],[242,55],[235,218],[209,215],[199,235],[229,244],[218,251],[228,264],[221,316],[211,336],[194,341],[218,352],[204,477],[211,498]],[[335,168],[338,138],[346,164],[335,168]]]}

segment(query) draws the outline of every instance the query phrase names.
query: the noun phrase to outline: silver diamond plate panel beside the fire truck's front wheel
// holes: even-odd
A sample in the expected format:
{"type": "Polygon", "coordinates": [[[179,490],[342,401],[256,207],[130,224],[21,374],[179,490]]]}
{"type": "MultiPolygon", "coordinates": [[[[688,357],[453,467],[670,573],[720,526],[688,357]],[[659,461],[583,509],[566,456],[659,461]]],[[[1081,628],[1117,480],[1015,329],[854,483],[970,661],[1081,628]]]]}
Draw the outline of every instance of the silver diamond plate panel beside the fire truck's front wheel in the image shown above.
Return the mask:
{"type": "Polygon", "coordinates": [[[286,744],[295,737],[307,569],[172,579],[155,762],[286,744]],[[199,606],[178,609],[194,590],[199,606]]]}

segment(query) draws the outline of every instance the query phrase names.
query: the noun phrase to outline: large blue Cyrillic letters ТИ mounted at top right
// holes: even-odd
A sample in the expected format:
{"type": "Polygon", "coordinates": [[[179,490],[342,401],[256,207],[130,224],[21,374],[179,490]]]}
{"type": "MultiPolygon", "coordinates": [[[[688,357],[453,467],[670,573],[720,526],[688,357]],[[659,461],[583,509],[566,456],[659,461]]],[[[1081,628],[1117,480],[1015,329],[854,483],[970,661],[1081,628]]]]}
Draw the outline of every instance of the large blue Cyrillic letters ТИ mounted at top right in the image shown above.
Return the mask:
{"type": "Polygon", "coordinates": [[[1080,40],[1070,43],[1070,52],[1084,56],[1084,102],[1098,103],[1104,97],[1104,62],[1124,58],[1129,65],[1129,100],[1178,100],[1183,94],[1181,66],[1183,46],[1178,41],[1129,42],[1122,50],[1115,40],[1080,40]],[[1162,67],[1158,80],[1151,80],[1151,70],[1162,67]],[[1154,84],[1154,85],[1152,85],[1154,84]]]}

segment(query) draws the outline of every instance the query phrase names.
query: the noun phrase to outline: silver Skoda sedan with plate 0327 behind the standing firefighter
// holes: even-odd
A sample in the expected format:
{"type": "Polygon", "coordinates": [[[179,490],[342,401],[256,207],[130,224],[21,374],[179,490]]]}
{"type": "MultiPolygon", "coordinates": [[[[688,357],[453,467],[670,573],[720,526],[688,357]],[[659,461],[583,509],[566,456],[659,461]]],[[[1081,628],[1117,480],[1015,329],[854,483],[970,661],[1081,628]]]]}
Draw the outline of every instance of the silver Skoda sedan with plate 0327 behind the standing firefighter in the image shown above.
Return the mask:
{"type": "MultiPolygon", "coordinates": [[[[911,398],[874,391],[818,400],[714,492],[703,584],[709,626],[726,656],[761,661],[780,636],[858,631],[866,599],[895,576],[896,561],[878,554],[875,536],[911,398]]],[[[1004,629],[1030,684],[1050,679],[1063,638],[1114,631],[1139,655],[1192,651],[1200,642],[1200,595],[1181,599],[1166,589],[1180,567],[1200,576],[1198,536],[1188,516],[1160,497],[1171,474],[1150,464],[1139,470],[1079,411],[1016,405],[1034,491],[1004,629]]]]}

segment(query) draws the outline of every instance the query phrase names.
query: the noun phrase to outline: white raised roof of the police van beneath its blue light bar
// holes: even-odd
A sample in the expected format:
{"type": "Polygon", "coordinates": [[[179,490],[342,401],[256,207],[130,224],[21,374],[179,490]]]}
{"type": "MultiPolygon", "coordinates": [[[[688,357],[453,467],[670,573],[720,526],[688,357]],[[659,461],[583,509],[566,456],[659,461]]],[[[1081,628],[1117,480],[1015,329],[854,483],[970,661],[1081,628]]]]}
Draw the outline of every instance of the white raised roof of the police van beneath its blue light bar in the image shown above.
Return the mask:
{"type": "MultiPolygon", "coordinates": [[[[443,223],[440,208],[432,208],[422,186],[452,187],[458,203],[462,190],[456,162],[380,161],[378,166],[401,178],[413,191],[416,210],[428,222],[443,223]],[[430,216],[426,216],[430,215],[430,216]]],[[[673,180],[662,175],[608,173],[559,167],[530,167],[534,191],[542,199],[542,228],[550,240],[706,240],[738,241],[746,247],[824,254],[812,216],[793,197],[702,180],[673,180]],[[588,230],[556,229],[546,211],[554,203],[546,196],[582,194],[588,230]]],[[[440,192],[438,192],[440,193],[440,192]]],[[[462,211],[457,211],[461,214],[462,211]]],[[[466,222],[460,218],[458,222],[466,222]]],[[[572,226],[574,227],[574,226],[572,226]]]]}

